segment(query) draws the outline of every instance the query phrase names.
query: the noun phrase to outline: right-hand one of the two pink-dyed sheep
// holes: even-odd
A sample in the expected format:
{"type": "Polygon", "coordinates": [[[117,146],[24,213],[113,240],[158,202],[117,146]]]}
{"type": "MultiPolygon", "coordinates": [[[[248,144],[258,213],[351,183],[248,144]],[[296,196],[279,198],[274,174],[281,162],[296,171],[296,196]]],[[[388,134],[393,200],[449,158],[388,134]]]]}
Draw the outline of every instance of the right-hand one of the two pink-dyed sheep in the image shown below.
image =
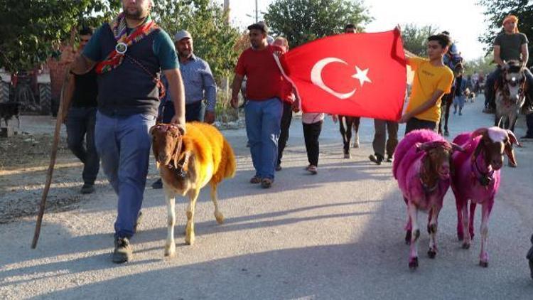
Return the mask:
{"type": "Polygon", "coordinates": [[[516,165],[512,144],[518,144],[515,134],[498,127],[480,128],[475,132],[459,134],[453,142],[463,146],[464,152],[453,154],[451,188],[456,195],[457,236],[463,241],[463,248],[470,248],[474,236],[475,205],[483,207],[481,216],[481,252],[480,266],[488,267],[486,251],[488,219],[494,198],[500,188],[500,168],[503,154],[507,154],[510,163],[516,165]],[[468,215],[470,200],[470,218],[468,215]]]}

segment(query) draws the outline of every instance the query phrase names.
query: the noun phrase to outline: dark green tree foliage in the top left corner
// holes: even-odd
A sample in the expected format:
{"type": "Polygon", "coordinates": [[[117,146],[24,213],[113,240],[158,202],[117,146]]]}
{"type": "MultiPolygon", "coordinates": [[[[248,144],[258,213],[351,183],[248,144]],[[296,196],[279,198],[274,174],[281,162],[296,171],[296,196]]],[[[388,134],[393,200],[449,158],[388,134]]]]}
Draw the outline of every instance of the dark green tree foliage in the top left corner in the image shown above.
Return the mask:
{"type": "Polygon", "coordinates": [[[10,72],[35,68],[74,26],[94,25],[116,8],[115,1],[106,0],[0,1],[0,67],[10,72]]]}

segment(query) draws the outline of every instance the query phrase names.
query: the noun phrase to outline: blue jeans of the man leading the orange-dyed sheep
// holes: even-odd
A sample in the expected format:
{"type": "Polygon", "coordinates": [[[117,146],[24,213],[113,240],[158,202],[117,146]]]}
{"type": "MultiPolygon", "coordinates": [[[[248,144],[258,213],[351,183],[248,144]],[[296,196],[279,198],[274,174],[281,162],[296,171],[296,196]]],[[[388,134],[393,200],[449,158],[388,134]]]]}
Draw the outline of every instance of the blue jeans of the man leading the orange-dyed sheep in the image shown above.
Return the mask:
{"type": "Polygon", "coordinates": [[[150,127],[156,117],[149,114],[96,116],[96,149],[102,168],[119,196],[116,237],[131,237],[143,201],[151,147],[150,127]]]}

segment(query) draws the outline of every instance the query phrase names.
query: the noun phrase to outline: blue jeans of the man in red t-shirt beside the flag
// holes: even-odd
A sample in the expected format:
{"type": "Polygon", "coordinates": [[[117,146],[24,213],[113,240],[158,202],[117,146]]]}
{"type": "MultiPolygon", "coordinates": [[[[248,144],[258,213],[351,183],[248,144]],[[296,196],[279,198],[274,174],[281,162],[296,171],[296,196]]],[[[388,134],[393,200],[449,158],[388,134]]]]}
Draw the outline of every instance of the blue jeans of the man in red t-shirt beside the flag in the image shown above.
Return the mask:
{"type": "Polygon", "coordinates": [[[249,100],[244,109],[255,175],[274,180],[283,105],[279,98],[249,100]]]}

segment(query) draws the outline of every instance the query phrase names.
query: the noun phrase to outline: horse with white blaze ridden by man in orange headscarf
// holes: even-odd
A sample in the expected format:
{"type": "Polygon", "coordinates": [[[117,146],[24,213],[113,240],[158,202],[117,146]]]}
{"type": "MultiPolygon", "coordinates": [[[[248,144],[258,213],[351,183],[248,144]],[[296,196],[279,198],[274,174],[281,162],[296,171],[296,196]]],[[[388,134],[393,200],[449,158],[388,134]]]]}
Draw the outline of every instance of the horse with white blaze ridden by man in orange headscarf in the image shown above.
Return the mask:
{"type": "Polygon", "coordinates": [[[515,132],[518,114],[526,100],[525,71],[525,67],[518,60],[509,60],[505,63],[502,75],[495,82],[494,126],[515,132]]]}

